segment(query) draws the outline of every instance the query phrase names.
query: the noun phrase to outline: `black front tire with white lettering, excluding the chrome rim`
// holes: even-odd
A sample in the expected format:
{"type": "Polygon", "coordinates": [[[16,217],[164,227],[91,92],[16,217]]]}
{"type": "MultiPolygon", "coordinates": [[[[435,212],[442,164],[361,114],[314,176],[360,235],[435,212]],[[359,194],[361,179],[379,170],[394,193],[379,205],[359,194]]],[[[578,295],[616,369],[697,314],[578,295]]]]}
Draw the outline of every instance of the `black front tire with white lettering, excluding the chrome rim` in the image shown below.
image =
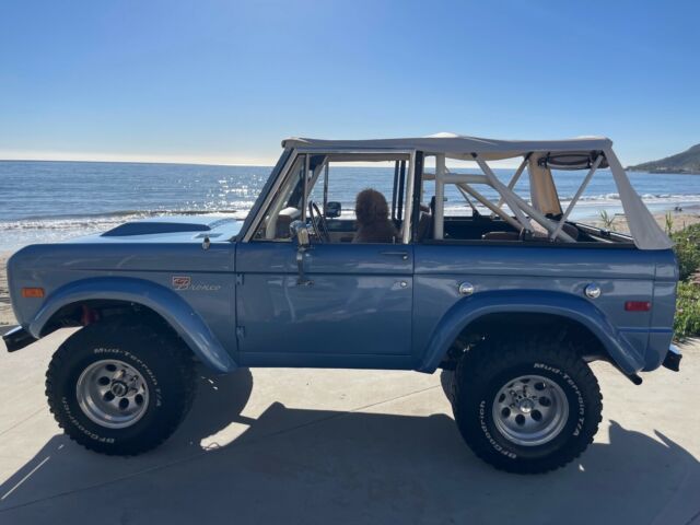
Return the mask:
{"type": "Polygon", "coordinates": [[[174,334],[135,318],[82,328],[56,351],[46,372],[51,413],[68,436],[107,455],[137,455],[163,443],[191,407],[196,381],[191,352],[174,334]],[[149,388],[141,418],[121,429],[90,419],[78,402],[81,373],[100,360],[116,359],[137,370],[149,388]]]}

